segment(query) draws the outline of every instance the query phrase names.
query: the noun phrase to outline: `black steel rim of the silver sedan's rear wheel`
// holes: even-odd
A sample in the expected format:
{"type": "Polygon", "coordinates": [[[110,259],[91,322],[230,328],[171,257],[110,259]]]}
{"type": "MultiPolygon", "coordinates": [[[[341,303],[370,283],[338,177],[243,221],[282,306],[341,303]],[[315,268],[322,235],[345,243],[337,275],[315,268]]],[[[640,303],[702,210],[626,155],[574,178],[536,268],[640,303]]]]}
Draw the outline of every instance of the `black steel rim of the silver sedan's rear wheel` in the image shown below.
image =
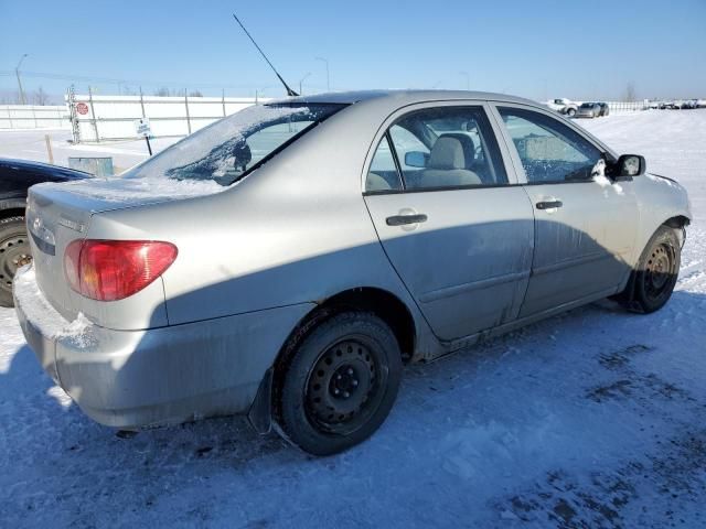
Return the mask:
{"type": "Polygon", "coordinates": [[[304,388],[304,409],[320,431],[347,435],[365,424],[383,397],[382,353],[367,337],[346,337],[319,355],[304,388]]]}

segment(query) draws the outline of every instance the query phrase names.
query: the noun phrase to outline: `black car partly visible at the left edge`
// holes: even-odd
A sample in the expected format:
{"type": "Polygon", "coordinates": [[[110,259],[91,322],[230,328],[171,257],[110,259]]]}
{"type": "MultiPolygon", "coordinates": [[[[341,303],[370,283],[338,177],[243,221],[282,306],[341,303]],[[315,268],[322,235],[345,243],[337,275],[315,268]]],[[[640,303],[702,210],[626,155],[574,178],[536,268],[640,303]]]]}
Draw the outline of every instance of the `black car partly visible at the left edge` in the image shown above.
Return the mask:
{"type": "Polygon", "coordinates": [[[14,272],[32,260],[24,225],[26,190],[41,182],[92,176],[58,165],[0,158],[0,306],[12,306],[14,272]]]}

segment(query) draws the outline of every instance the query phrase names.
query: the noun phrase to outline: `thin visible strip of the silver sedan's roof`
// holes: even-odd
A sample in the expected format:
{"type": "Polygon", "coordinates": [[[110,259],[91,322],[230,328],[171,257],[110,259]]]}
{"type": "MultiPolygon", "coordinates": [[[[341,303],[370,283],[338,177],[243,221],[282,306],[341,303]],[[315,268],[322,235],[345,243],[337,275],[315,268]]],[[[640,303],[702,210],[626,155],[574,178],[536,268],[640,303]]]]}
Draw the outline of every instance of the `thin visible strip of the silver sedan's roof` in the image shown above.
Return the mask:
{"type": "MultiPolygon", "coordinates": [[[[509,96],[506,94],[493,94],[490,91],[470,91],[470,90],[353,90],[353,91],[332,91],[327,94],[313,94],[286,99],[288,102],[338,102],[352,105],[354,102],[366,101],[370,99],[391,98],[398,102],[409,105],[424,101],[453,101],[459,99],[478,99],[505,102],[520,102],[537,105],[537,101],[525,99],[522,97],[509,96]]],[[[277,102],[284,102],[280,100],[277,102]]]]}

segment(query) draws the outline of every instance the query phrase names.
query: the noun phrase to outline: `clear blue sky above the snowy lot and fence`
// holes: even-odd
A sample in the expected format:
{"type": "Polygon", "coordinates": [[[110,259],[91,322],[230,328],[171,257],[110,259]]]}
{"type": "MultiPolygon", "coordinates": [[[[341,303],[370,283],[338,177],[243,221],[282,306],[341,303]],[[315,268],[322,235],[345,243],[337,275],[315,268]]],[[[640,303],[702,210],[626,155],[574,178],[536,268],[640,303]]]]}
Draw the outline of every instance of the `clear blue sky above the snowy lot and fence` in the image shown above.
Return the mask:
{"type": "Polygon", "coordinates": [[[306,93],[437,87],[531,98],[706,97],[706,0],[11,1],[0,0],[0,93],[103,94],[159,86],[282,95],[236,11],[306,93]],[[57,74],[61,79],[36,74],[57,74]],[[117,82],[105,79],[126,79],[117,82]]]}

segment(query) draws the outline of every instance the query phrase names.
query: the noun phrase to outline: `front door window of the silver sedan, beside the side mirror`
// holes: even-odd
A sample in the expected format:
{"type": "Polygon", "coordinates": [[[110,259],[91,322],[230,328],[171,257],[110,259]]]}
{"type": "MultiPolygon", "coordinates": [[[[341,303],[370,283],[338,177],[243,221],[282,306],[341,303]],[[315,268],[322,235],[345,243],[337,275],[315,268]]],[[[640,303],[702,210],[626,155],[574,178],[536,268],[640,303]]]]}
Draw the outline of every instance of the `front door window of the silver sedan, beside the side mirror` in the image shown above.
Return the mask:
{"type": "Polygon", "coordinates": [[[590,181],[600,150],[560,121],[532,110],[499,108],[528,183],[590,181]]]}

